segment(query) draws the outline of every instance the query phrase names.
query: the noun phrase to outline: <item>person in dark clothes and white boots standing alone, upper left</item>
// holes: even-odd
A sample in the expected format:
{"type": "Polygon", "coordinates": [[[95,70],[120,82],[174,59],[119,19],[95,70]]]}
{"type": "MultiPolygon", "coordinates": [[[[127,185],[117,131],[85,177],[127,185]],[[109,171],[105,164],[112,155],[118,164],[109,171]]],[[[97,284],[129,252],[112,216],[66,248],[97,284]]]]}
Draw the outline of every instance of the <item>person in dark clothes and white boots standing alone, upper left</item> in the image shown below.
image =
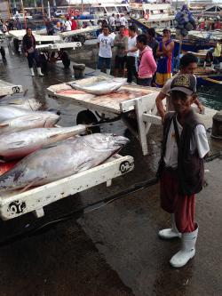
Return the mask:
{"type": "Polygon", "coordinates": [[[36,61],[38,76],[44,76],[41,71],[39,56],[36,52],[36,39],[32,34],[31,28],[27,28],[27,34],[23,37],[22,45],[25,56],[28,59],[28,67],[30,68],[31,76],[35,76],[33,70],[34,61],[36,61]]]}

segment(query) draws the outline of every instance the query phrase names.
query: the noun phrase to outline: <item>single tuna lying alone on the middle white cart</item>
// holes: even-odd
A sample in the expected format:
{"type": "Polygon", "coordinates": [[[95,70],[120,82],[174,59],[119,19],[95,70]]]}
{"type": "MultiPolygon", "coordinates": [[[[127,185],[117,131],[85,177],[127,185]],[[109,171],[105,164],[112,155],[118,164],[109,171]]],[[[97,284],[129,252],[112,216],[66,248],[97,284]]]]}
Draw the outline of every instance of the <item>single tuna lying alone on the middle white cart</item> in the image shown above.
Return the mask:
{"type": "Polygon", "coordinates": [[[111,78],[104,81],[95,82],[92,84],[70,84],[72,87],[74,87],[76,90],[88,92],[91,94],[107,94],[110,92],[115,92],[118,90],[123,84],[126,84],[125,78],[111,78]]]}

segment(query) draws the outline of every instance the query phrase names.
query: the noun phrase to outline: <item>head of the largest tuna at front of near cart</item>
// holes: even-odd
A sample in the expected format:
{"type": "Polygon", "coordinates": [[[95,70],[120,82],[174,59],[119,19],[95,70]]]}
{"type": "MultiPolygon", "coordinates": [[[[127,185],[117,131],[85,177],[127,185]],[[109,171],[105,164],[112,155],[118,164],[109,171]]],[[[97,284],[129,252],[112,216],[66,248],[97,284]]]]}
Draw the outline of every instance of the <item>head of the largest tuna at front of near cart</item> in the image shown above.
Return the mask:
{"type": "Polygon", "coordinates": [[[130,140],[118,136],[114,133],[93,133],[89,136],[88,139],[91,141],[91,146],[97,150],[118,150],[123,148],[130,140]],[[91,139],[90,139],[91,137],[91,139]]]}

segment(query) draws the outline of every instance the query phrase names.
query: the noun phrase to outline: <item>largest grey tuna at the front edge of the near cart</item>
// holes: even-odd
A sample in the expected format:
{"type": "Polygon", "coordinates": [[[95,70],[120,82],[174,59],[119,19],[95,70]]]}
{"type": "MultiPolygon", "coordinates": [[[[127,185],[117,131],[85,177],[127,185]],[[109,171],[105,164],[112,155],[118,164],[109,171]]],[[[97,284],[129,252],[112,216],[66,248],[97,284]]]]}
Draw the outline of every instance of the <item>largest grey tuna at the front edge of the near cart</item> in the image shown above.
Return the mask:
{"type": "Polygon", "coordinates": [[[40,186],[102,164],[129,140],[94,133],[37,150],[0,177],[0,191],[40,186]]]}

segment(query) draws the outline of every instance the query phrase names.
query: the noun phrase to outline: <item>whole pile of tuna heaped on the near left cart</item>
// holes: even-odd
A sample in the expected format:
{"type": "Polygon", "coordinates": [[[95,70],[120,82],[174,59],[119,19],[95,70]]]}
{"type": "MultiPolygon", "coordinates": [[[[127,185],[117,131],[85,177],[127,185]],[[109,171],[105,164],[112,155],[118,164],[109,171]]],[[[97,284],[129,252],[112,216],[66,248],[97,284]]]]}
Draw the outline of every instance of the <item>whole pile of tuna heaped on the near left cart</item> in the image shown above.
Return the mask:
{"type": "Polygon", "coordinates": [[[34,99],[0,100],[0,192],[26,190],[82,172],[102,164],[128,142],[113,134],[75,137],[87,126],[57,127],[59,115],[38,108],[34,99]]]}

